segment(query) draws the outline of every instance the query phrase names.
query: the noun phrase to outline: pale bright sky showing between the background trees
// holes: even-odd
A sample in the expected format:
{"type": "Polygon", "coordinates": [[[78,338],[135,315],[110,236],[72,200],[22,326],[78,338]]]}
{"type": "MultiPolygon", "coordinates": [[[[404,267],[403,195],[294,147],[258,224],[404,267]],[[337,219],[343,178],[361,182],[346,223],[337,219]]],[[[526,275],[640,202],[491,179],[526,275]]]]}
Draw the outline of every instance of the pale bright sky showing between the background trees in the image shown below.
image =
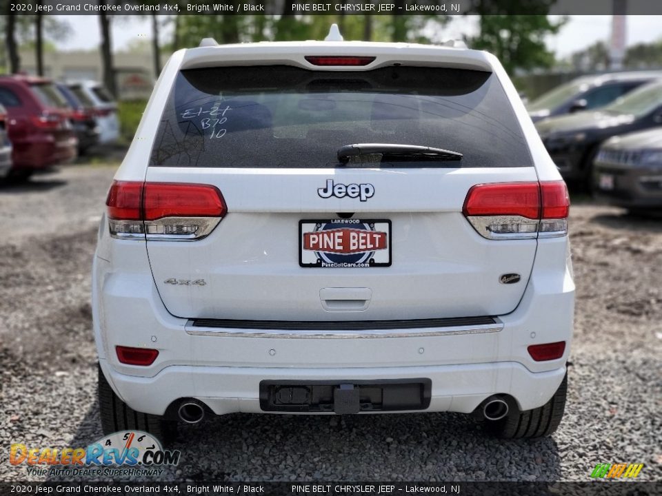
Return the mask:
{"type": "MultiPolygon", "coordinates": [[[[99,21],[96,16],[61,16],[72,28],[66,41],[58,42],[61,50],[89,50],[99,46],[99,21]]],[[[123,17],[113,23],[112,36],[115,50],[126,48],[134,40],[151,38],[150,21],[138,17],[123,17]]],[[[472,17],[457,17],[443,28],[439,38],[461,38],[463,34],[474,34],[476,20],[472,17]]],[[[548,37],[547,43],[557,58],[582,50],[596,41],[608,41],[611,32],[611,16],[575,15],[561,28],[556,36],[548,37]]],[[[168,37],[168,30],[162,36],[168,37]]],[[[628,45],[648,43],[662,39],[662,16],[628,16],[626,41],[628,45]]]]}

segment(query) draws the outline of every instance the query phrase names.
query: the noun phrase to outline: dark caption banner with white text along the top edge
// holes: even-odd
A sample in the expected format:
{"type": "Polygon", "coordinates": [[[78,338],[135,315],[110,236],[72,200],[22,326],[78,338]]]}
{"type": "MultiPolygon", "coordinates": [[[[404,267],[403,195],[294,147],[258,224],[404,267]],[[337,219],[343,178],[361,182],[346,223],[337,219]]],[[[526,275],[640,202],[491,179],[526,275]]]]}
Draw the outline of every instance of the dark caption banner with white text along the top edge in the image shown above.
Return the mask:
{"type": "Polygon", "coordinates": [[[3,0],[3,13],[48,15],[662,15],[660,0],[3,0]]]}

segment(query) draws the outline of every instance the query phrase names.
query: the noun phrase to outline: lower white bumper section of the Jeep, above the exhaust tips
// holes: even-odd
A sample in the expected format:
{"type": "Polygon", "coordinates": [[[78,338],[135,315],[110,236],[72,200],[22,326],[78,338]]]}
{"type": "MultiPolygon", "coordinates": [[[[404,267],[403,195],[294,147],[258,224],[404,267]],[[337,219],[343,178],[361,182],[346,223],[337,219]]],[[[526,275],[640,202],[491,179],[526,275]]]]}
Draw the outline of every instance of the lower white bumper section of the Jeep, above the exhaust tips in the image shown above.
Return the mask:
{"type": "MultiPolygon", "coordinates": [[[[168,366],[153,378],[139,378],[114,370],[100,360],[112,388],[130,406],[162,415],[183,397],[195,397],[214,413],[264,413],[260,406],[260,382],[270,380],[401,380],[432,381],[430,406],[423,411],[470,413],[495,393],[512,395],[520,409],[545,404],[558,389],[565,366],[533,373],[513,362],[485,364],[379,368],[285,369],[221,366],[168,366]]],[[[417,410],[421,411],[421,410],[417,410]]],[[[274,412],[275,413],[275,412],[274,412]]]]}

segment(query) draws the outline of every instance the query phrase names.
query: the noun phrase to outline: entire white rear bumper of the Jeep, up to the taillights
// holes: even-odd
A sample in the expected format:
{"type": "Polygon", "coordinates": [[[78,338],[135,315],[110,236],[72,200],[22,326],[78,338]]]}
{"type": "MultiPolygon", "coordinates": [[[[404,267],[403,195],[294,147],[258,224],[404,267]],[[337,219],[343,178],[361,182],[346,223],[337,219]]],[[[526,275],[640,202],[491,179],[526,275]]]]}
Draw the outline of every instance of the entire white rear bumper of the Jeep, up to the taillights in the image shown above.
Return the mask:
{"type": "MultiPolygon", "coordinates": [[[[106,236],[104,234],[104,236],[106,236]]],[[[495,393],[523,410],[542,406],[558,388],[570,353],[574,282],[568,240],[539,242],[519,306],[496,325],[385,329],[329,338],[269,329],[194,327],[165,309],[143,243],[103,238],[94,259],[92,313],[101,368],[133,409],[163,414],[183,397],[216,413],[261,411],[261,380],[428,378],[427,411],[472,411],[495,393]],[[122,257],[113,256],[121,244],[122,257]],[[104,258],[101,258],[101,257],[104,258]],[[109,260],[117,260],[110,262],[109,260]],[[122,264],[118,267],[118,264],[122,264]],[[379,333],[377,333],[379,334],[379,333]],[[565,341],[557,360],[535,362],[532,344],[565,341]],[[159,350],[150,366],[117,360],[115,347],[159,350]]]]}

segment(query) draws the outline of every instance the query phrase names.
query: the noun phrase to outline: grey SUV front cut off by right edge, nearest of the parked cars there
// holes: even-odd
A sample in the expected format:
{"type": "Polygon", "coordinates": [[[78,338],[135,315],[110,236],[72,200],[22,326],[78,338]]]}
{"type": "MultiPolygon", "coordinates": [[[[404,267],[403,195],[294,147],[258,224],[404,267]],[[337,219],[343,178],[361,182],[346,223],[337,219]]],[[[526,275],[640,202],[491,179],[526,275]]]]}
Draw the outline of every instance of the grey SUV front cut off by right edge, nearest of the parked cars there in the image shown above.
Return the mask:
{"type": "Polygon", "coordinates": [[[610,138],[594,163],[594,192],[633,211],[662,209],[662,127],[610,138]]]}

